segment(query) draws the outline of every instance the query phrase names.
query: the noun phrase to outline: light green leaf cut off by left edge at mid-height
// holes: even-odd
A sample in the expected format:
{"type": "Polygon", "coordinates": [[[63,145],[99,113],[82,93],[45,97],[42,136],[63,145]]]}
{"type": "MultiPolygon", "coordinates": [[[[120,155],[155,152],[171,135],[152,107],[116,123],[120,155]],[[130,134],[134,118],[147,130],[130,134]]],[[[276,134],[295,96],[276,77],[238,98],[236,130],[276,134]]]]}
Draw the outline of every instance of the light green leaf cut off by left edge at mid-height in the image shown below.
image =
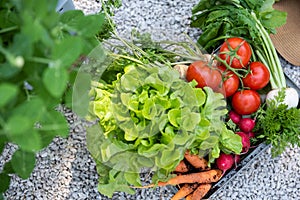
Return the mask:
{"type": "Polygon", "coordinates": [[[0,84],[0,108],[12,101],[18,94],[18,87],[9,83],[0,84]]]}

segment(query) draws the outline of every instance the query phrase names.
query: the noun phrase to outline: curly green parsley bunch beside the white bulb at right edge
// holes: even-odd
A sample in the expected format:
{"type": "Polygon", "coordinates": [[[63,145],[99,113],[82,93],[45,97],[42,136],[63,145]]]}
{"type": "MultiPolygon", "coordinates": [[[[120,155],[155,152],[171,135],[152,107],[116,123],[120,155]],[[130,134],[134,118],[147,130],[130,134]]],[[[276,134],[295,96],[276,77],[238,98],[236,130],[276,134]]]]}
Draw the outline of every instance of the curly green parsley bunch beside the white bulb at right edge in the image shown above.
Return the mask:
{"type": "Polygon", "coordinates": [[[268,102],[257,113],[255,131],[258,138],[272,144],[272,155],[280,155],[286,147],[300,147],[300,109],[290,108],[284,103],[285,92],[280,90],[275,99],[268,102]]]}

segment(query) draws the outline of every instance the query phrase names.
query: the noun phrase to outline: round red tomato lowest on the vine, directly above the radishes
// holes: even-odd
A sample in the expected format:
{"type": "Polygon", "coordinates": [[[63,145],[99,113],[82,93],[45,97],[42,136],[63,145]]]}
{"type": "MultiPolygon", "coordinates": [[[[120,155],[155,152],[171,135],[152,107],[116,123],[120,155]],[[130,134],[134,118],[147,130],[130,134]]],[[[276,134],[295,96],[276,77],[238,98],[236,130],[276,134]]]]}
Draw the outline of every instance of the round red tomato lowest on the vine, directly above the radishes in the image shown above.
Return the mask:
{"type": "Polygon", "coordinates": [[[242,90],[232,96],[233,109],[240,115],[249,115],[260,107],[260,96],[254,90],[242,90]]]}

